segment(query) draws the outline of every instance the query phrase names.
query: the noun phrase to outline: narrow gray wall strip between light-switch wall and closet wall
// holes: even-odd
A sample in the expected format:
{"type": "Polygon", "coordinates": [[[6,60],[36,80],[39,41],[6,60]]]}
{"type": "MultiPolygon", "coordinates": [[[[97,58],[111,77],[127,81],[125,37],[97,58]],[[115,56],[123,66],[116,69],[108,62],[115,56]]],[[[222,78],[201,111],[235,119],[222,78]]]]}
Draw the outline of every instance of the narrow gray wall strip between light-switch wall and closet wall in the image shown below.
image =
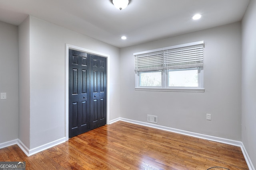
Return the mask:
{"type": "Polygon", "coordinates": [[[30,24],[29,17],[19,29],[19,139],[30,147],[30,24]]]}

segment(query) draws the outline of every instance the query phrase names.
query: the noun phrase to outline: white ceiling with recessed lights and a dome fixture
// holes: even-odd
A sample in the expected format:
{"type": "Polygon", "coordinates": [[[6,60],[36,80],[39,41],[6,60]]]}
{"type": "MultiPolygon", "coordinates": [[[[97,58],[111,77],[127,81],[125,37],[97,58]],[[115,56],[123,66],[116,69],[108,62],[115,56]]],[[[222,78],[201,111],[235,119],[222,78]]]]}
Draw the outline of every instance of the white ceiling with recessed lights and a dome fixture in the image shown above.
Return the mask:
{"type": "Polygon", "coordinates": [[[32,15],[122,48],[241,21],[249,1],[131,0],[118,10],[110,0],[0,0],[0,21],[32,15]]]}

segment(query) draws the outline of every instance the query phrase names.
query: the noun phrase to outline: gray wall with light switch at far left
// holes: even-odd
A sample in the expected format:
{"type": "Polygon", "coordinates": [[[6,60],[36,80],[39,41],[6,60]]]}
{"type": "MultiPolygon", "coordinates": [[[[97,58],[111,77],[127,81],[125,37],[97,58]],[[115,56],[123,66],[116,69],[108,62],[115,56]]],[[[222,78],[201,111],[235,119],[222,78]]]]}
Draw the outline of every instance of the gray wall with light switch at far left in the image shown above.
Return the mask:
{"type": "Polygon", "coordinates": [[[18,139],[18,27],[0,21],[0,143],[18,139]]]}

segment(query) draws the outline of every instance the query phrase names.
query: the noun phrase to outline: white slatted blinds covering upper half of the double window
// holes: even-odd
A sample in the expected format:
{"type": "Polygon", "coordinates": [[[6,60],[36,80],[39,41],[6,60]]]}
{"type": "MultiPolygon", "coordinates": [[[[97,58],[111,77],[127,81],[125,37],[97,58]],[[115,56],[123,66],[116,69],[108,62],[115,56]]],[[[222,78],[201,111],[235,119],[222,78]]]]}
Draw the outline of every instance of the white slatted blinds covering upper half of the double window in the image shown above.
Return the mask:
{"type": "Polygon", "coordinates": [[[204,41],[134,53],[135,71],[202,67],[204,41]]]}

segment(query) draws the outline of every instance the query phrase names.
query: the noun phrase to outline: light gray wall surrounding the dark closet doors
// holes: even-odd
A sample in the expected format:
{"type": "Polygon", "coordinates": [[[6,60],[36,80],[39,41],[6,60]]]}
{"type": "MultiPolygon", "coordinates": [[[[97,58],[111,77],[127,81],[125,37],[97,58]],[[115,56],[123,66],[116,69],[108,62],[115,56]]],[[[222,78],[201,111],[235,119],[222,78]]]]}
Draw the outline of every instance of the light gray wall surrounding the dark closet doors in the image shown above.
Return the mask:
{"type": "MultiPolygon", "coordinates": [[[[28,149],[65,137],[66,43],[110,55],[110,120],[118,118],[119,49],[33,16],[29,19],[30,146],[28,149]]],[[[26,66],[26,63],[23,64],[26,66]]]]}

